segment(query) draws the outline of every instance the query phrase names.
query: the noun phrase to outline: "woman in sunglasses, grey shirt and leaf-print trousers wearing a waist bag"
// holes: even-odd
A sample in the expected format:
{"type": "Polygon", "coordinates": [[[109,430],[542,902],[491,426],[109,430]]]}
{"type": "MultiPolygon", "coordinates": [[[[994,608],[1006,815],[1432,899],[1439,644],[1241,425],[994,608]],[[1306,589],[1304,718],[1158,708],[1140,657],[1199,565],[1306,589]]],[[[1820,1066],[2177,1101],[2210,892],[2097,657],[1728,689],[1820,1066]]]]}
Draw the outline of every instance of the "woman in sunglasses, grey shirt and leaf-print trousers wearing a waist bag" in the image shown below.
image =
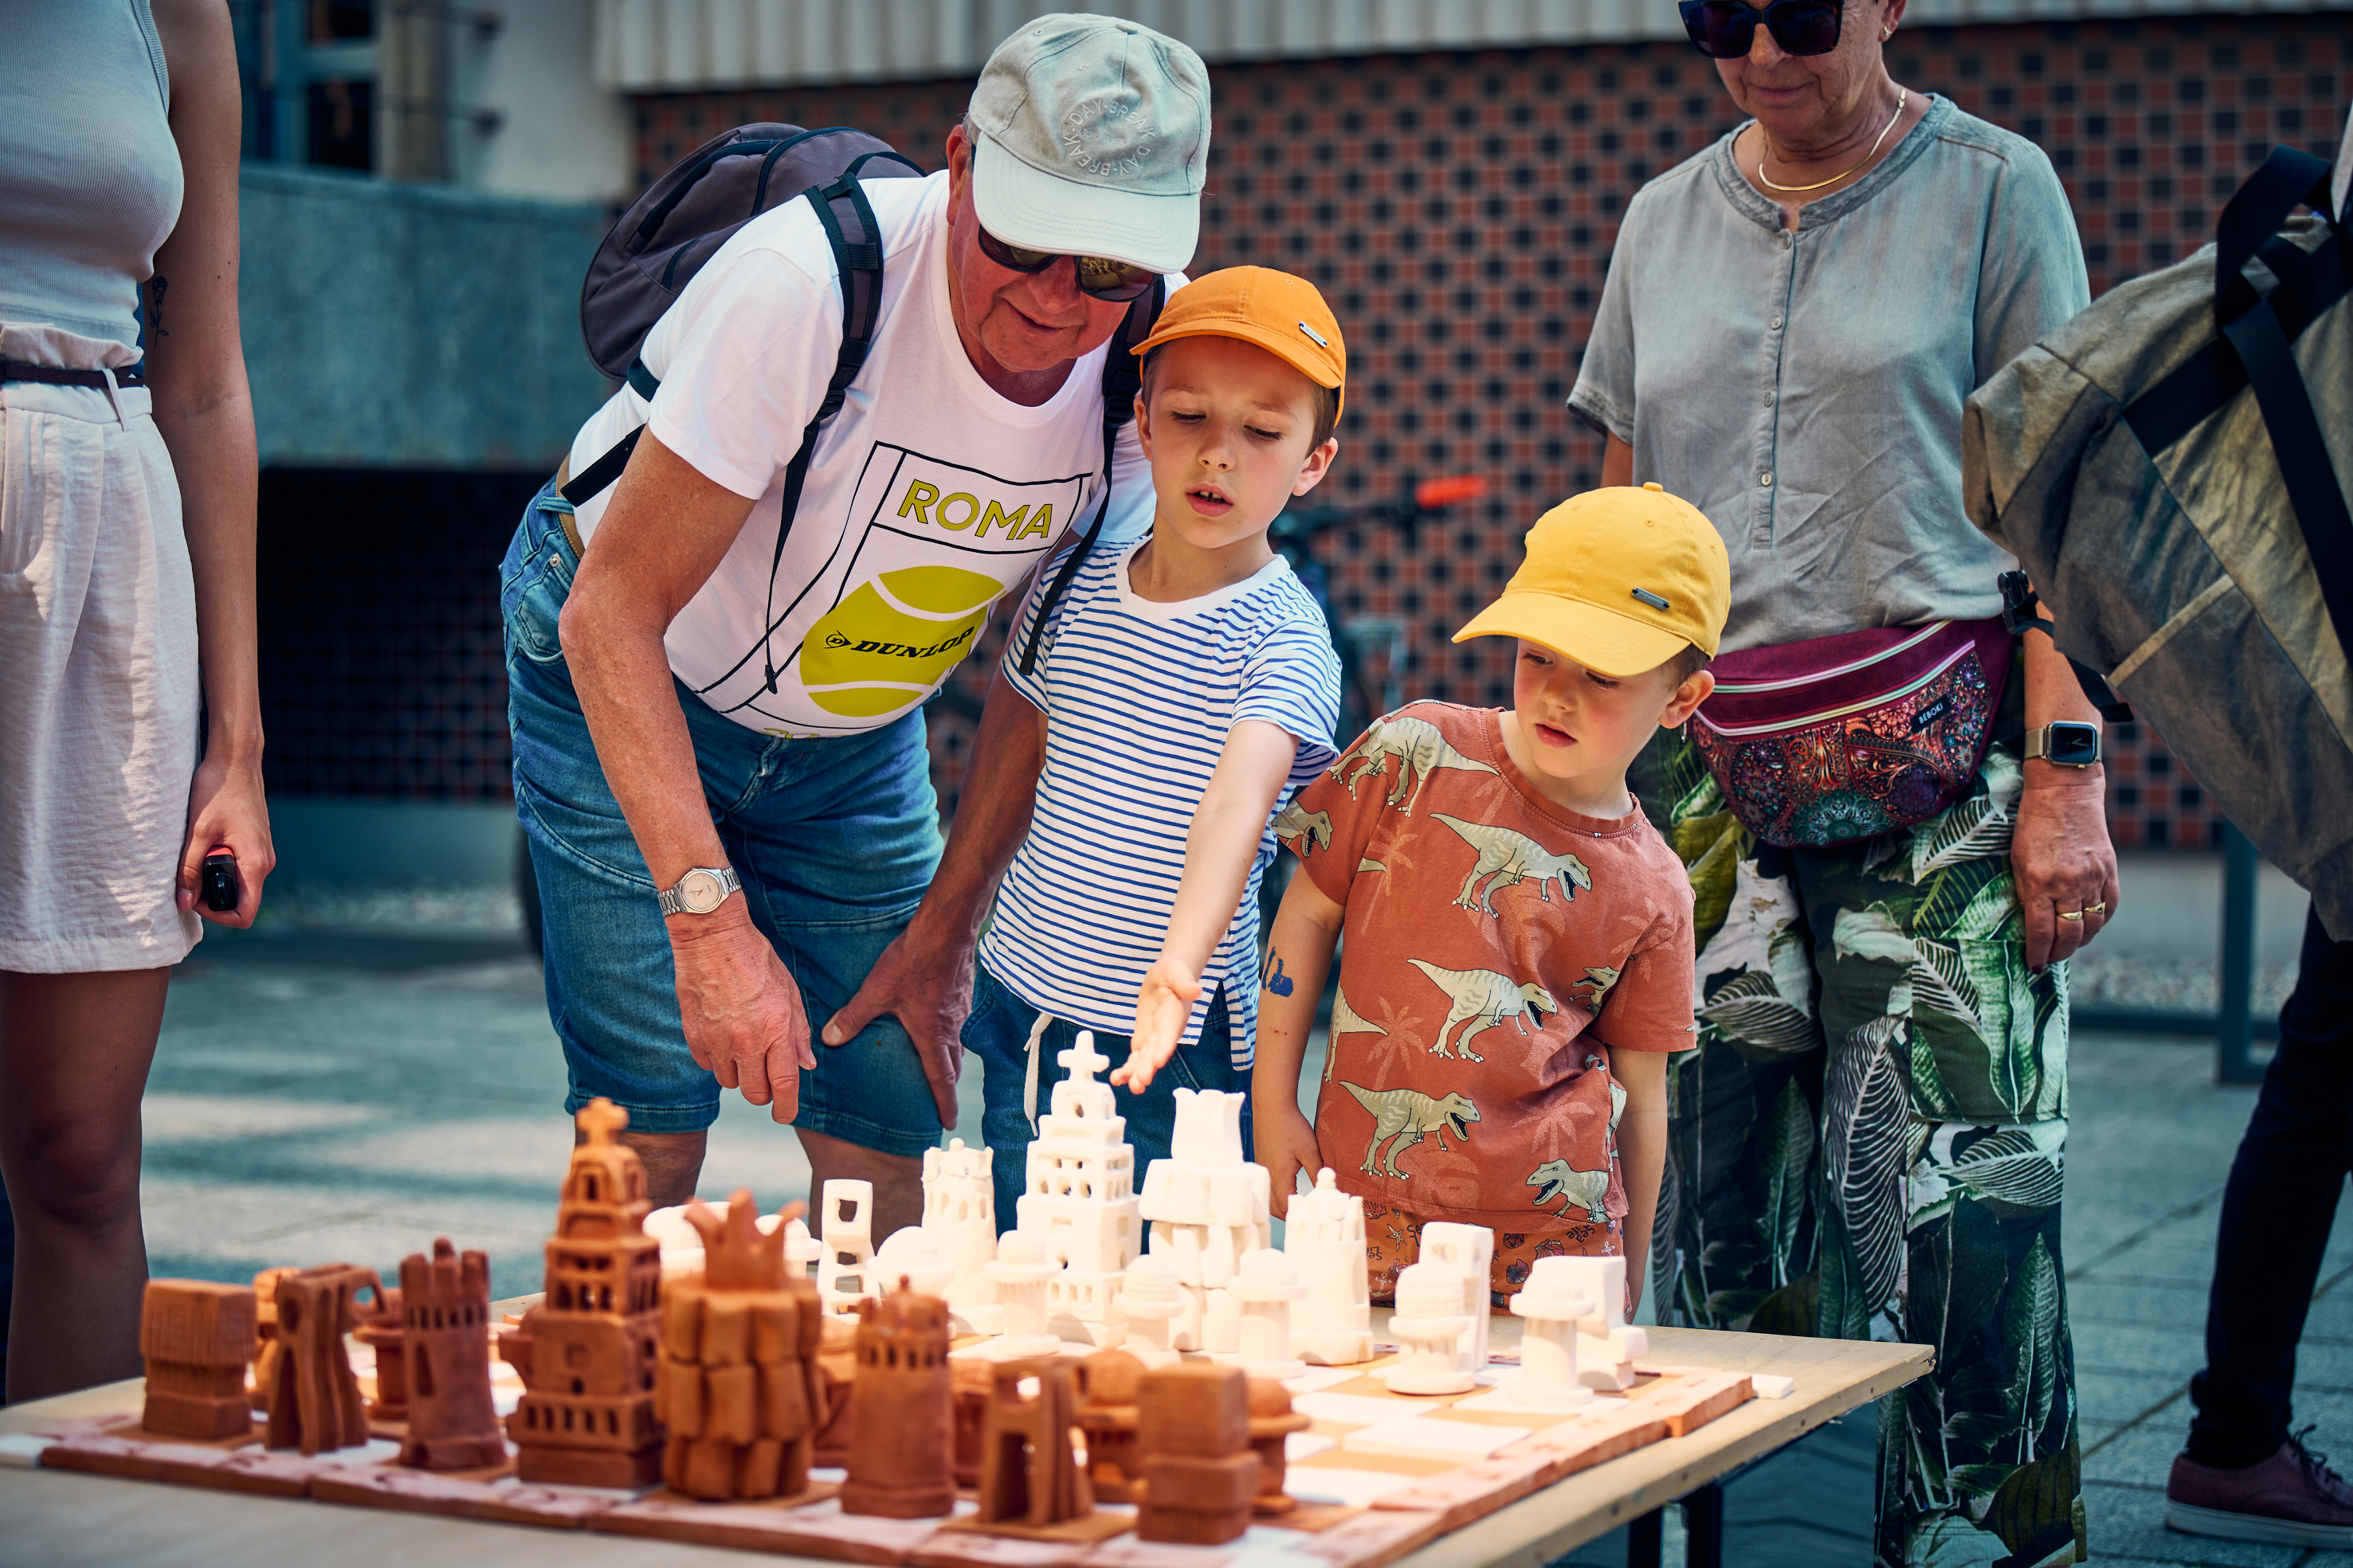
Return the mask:
{"type": "Polygon", "coordinates": [[[1569,407],[1602,484],[1722,531],[1718,691],[1769,663],[1758,701],[1842,741],[1739,773],[1704,708],[1638,773],[1701,945],[1659,1312],[1934,1345],[1880,1420],[1875,1561],[2080,1561],[2059,961],[2115,853],[2097,710],[1995,621],[2014,562],[1962,510],[1960,418],[2089,301],[2082,249],[2040,148],[1889,75],[1904,0],[1680,9],[1748,120],[1628,205],[1569,407]],[[1951,701],[1824,696],[1889,628],[1974,661],[1951,701]]]}

